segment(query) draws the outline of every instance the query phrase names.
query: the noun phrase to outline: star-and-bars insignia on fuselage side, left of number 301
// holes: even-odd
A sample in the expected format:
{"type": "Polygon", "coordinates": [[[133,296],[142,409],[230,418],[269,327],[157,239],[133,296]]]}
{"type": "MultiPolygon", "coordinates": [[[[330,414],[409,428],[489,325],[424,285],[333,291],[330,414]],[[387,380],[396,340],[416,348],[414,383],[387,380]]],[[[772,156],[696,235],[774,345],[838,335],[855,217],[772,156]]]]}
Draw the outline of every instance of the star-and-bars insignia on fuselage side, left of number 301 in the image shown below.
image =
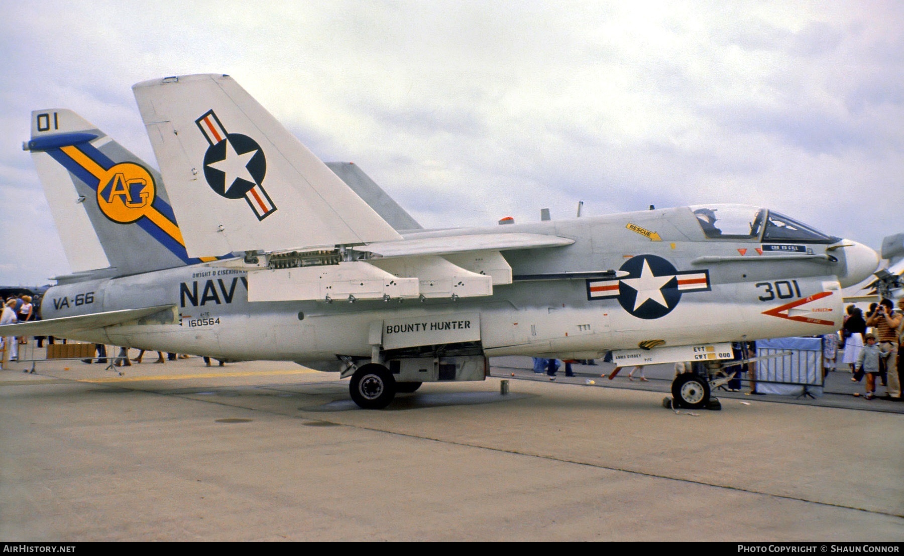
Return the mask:
{"type": "Polygon", "coordinates": [[[672,312],[685,292],[708,292],[710,272],[675,269],[661,256],[637,255],[618,270],[622,278],[588,280],[587,299],[615,298],[627,312],[638,319],[659,319],[672,312]]]}

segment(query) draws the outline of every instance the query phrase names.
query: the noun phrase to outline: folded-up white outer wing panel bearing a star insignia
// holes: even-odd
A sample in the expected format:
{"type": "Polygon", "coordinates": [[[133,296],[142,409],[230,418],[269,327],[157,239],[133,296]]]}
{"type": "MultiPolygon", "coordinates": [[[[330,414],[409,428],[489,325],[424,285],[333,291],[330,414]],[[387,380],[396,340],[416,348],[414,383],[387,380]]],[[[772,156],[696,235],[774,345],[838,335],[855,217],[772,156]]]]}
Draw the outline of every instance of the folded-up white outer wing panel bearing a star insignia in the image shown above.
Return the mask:
{"type": "Polygon", "coordinates": [[[152,79],[133,91],[175,212],[191,215],[189,255],[400,238],[229,76],[152,79]]]}

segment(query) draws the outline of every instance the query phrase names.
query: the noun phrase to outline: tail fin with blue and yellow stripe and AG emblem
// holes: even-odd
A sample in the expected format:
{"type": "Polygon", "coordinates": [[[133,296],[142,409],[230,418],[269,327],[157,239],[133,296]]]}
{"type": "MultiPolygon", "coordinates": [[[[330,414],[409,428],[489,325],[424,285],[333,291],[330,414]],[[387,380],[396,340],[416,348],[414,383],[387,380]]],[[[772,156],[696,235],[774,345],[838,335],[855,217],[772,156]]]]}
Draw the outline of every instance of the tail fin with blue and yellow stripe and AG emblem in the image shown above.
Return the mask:
{"type": "Polygon", "coordinates": [[[201,262],[185,251],[160,174],[97,126],[71,110],[35,110],[23,146],[73,272],[112,266],[123,275],[201,262]]]}

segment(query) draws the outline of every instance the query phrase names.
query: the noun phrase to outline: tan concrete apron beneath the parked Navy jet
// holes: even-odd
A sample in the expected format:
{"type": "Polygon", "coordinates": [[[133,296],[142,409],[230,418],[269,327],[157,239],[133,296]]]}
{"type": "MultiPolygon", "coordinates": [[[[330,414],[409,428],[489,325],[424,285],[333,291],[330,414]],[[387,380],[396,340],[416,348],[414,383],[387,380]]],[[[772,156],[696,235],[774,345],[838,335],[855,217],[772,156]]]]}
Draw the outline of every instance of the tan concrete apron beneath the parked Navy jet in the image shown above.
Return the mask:
{"type": "MultiPolygon", "coordinates": [[[[148,360],[153,360],[153,353],[148,360]]],[[[71,364],[69,364],[71,365],[71,364]]],[[[285,363],[0,373],[7,540],[896,541],[902,417],[513,381],[358,410],[285,363]],[[73,380],[74,379],[74,380],[73,380]],[[86,382],[79,382],[86,381],[86,382]]],[[[60,366],[60,368],[56,368],[60,366]]]]}

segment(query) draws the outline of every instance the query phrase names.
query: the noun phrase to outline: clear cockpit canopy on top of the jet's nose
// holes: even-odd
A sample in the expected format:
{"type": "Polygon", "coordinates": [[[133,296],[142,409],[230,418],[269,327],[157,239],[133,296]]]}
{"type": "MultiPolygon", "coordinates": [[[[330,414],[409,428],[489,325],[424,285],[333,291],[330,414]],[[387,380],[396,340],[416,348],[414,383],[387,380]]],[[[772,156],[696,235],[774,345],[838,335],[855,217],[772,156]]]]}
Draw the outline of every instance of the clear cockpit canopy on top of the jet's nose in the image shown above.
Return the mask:
{"type": "Polygon", "coordinates": [[[749,239],[789,243],[833,244],[839,237],[824,234],[775,210],[749,205],[694,205],[703,234],[710,239],[749,239]]]}

